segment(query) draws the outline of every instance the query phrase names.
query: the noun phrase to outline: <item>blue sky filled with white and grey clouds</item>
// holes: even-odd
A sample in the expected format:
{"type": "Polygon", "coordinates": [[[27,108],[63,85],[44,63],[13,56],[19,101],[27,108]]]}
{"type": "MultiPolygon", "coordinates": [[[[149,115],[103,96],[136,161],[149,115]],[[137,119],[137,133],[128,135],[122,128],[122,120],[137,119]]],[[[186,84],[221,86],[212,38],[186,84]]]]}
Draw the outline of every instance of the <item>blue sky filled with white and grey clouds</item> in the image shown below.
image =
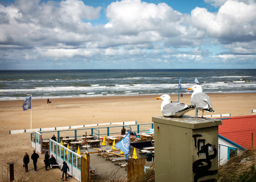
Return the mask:
{"type": "Polygon", "coordinates": [[[0,69],[255,69],[255,0],[0,0],[0,69]]]}

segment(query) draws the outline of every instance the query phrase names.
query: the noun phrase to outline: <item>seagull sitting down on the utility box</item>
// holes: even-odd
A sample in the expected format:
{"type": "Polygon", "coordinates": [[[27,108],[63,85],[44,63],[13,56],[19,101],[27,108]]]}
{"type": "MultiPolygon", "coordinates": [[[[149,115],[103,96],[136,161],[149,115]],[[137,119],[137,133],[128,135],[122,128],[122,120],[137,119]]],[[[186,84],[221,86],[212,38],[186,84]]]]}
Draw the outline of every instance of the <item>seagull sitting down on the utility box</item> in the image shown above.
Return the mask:
{"type": "Polygon", "coordinates": [[[188,111],[195,109],[195,106],[188,106],[182,102],[175,101],[170,103],[171,98],[167,94],[164,94],[161,97],[157,97],[156,99],[163,100],[161,104],[161,113],[166,117],[181,117],[188,111]]]}

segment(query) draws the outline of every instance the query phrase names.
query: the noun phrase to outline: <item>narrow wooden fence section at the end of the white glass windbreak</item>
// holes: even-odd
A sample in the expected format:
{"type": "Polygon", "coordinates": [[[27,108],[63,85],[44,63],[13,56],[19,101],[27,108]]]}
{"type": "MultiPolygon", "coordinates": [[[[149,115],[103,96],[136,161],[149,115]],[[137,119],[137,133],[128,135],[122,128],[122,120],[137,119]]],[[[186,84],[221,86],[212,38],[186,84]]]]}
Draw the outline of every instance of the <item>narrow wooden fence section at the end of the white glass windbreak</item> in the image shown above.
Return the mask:
{"type": "Polygon", "coordinates": [[[90,155],[85,154],[87,159],[81,157],[81,182],[90,182],[90,155]]]}

